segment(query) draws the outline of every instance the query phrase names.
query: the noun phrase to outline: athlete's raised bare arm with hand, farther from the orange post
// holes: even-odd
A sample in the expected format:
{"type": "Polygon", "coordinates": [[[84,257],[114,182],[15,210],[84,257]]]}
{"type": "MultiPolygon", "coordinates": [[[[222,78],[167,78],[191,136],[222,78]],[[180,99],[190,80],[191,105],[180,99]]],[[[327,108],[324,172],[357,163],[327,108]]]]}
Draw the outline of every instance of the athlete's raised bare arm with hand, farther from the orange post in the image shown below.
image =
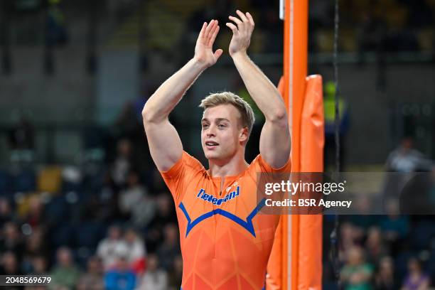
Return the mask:
{"type": "Polygon", "coordinates": [[[142,110],[149,151],[159,171],[171,168],[183,154],[180,136],[169,123],[168,116],[200,73],[214,65],[222,55],[221,49],[213,53],[213,43],[218,31],[216,20],[203,24],[196,41],[195,56],[163,82],[142,110]]]}

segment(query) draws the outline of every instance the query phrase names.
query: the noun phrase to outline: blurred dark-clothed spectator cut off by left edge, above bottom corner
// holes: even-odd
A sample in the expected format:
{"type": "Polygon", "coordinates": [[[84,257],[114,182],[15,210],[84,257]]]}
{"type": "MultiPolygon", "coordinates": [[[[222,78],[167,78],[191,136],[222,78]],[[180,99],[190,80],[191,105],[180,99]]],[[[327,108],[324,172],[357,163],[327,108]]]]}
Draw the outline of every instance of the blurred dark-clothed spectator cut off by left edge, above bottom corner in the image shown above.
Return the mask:
{"type": "Polygon", "coordinates": [[[3,235],[0,236],[0,253],[11,251],[17,254],[18,263],[21,263],[21,256],[24,252],[24,242],[21,232],[14,222],[6,222],[3,227],[3,235]]]}

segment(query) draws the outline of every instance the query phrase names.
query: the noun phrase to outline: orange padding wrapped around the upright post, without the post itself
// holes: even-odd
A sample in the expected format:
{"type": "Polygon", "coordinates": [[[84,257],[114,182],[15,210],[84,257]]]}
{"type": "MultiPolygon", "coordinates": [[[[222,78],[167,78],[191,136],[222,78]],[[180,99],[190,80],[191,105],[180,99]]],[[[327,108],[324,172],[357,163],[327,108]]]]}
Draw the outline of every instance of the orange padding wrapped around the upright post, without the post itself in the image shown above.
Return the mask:
{"type": "MultiPolygon", "coordinates": [[[[281,79],[282,80],[282,79],[281,79]]],[[[321,172],[323,171],[323,146],[324,146],[324,118],[323,118],[323,91],[321,75],[306,77],[306,90],[304,104],[301,109],[299,124],[299,140],[292,136],[292,150],[298,143],[301,160],[298,171],[321,172]]],[[[283,93],[280,81],[279,91],[283,93]]],[[[284,95],[284,94],[283,94],[284,95]]],[[[293,152],[294,154],[294,152],[293,152]]],[[[294,155],[292,155],[294,158],[294,155]]],[[[293,160],[292,160],[293,161],[293,160]]],[[[293,164],[293,162],[292,162],[293,164]]],[[[322,215],[292,215],[291,249],[287,248],[286,216],[281,216],[281,222],[276,229],[272,254],[267,267],[267,290],[287,289],[286,271],[288,267],[287,254],[291,250],[292,264],[297,264],[298,271],[291,273],[291,285],[294,289],[312,290],[321,289],[322,277],[322,215]],[[295,234],[296,232],[296,234],[295,234]],[[296,238],[296,245],[294,239],[296,238]],[[296,248],[296,250],[295,250],[296,248]],[[294,286],[296,284],[296,286],[294,286]],[[296,288],[295,288],[296,287],[296,288]]]]}

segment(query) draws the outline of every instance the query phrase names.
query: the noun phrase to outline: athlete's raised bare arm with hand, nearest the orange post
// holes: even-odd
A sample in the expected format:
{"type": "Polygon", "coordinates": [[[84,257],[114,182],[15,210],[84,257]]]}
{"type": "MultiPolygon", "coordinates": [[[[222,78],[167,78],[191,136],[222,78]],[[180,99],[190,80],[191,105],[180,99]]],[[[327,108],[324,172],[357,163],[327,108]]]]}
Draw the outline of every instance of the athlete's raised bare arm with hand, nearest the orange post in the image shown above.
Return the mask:
{"type": "Polygon", "coordinates": [[[286,164],[290,156],[290,131],[286,107],[272,82],[247,55],[247,48],[254,30],[254,19],[249,12],[237,10],[240,18],[230,16],[233,23],[226,25],[232,30],[230,55],[245,82],[252,100],[263,112],[264,123],[259,141],[262,158],[273,168],[286,164]]]}

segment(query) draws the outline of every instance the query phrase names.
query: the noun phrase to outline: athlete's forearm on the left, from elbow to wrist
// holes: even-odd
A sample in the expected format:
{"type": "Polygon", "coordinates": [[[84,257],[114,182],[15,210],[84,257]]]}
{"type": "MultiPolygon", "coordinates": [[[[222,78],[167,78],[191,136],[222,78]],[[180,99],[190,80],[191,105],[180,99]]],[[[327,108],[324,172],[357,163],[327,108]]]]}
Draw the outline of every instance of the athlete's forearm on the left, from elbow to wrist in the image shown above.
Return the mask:
{"type": "Polygon", "coordinates": [[[205,70],[206,66],[195,58],[186,63],[168,78],[146,102],[142,115],[146,122],[159,122],[171,113],[190,85],[205,70]]]}

